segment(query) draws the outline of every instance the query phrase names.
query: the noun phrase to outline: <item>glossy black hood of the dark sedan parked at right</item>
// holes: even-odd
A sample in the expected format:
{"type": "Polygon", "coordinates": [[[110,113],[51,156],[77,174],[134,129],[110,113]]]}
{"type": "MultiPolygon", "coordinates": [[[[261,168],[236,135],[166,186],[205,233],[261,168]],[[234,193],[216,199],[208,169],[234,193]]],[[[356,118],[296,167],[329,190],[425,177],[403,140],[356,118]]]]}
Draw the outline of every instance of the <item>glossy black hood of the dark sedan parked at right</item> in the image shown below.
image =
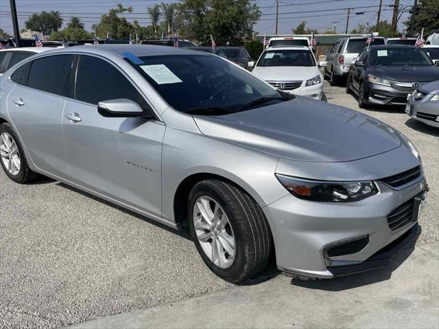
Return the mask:
{"type": "Polygon", "coordinates": [[[369,73],[397,82],[431,82],[439,79],[437,66],[374,66],[369,73]]]}

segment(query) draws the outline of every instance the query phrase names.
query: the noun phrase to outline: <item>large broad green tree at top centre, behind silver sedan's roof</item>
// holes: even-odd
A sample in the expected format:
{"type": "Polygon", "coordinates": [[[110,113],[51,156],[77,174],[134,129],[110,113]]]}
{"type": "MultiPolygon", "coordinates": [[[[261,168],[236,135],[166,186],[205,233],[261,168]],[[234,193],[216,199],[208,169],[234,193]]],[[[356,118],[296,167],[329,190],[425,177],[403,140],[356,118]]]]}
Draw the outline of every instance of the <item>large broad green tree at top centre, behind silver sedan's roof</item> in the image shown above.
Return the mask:
{"type": "Polygon", "coordinates": [[[250,0],[183,0],[178,3],[176,25],[180,36],[210,45],[241,45],[251,38],[253,25],[261,16],[250,0]]]}

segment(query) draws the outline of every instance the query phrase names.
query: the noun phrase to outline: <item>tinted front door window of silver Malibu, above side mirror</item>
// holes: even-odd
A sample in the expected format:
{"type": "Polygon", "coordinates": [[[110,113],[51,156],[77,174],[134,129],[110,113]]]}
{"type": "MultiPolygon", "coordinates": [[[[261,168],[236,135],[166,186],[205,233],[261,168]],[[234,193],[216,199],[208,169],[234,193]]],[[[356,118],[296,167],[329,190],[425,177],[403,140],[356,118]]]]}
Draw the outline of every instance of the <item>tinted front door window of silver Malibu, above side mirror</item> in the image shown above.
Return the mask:
{"type": "Polygon", "coordinates": [[[97,104],[99,101],[126,98],[150,108],[143,96],[112,64],[93,56],[80,56],[76,75],[75,99],[97,104]]]}

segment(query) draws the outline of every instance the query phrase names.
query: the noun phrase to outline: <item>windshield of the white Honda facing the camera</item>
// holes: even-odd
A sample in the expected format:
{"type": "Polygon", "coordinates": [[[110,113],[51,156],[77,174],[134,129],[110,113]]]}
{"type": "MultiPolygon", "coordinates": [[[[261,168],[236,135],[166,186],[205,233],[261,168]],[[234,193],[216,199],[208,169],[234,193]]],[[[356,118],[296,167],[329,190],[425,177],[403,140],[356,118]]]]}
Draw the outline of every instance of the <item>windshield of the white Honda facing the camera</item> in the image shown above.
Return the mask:
{"type": "Polygon", "coordinates": [[[270,50],[263,53],[257,66],[316,66],[309,49],[270,50]]]}

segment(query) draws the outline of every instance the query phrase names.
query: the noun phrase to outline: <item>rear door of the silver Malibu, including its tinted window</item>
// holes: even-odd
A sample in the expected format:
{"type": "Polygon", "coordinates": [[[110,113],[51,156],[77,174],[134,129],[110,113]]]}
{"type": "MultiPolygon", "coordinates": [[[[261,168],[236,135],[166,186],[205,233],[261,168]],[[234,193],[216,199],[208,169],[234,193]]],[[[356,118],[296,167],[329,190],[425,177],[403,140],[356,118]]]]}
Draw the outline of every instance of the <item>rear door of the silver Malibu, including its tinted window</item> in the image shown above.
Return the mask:
{"type": "Polygon", "coordinates": [[[61,123],[72,61],[73,55],[54,55],[23,64],[8,95],[10,118],[34,164],[58,176],[67,173],[61,123]]]}

